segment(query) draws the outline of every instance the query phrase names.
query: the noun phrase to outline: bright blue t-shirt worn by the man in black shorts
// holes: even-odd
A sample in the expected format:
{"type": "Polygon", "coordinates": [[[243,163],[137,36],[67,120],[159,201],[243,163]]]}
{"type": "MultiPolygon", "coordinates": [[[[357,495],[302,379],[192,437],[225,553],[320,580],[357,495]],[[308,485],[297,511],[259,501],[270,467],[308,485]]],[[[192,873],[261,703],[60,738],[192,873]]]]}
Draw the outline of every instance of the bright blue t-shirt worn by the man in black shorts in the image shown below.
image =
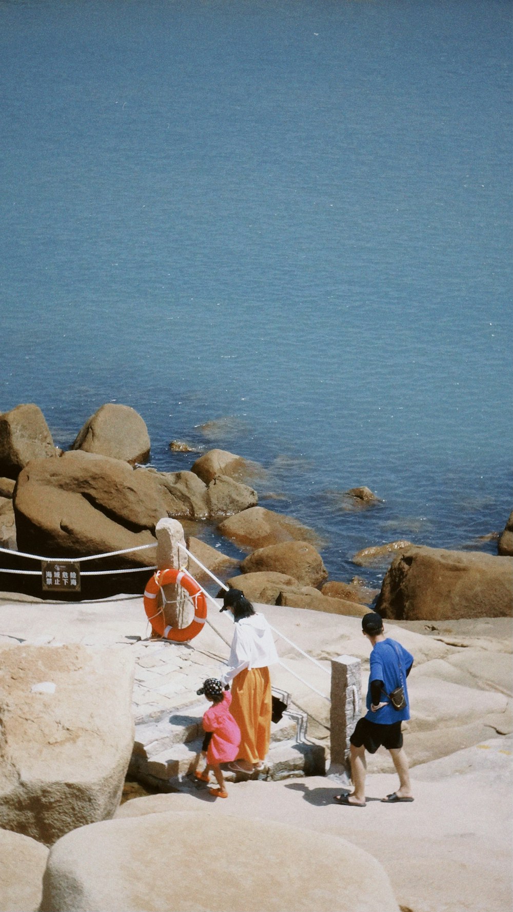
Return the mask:
{"type": "Polygon", "coordinates": [[[392,725],[393,722],[400,722],[410,718],[410,701],[408,700],[408,690],[406,689],[406,671],[414,662],[414,657],[407,649],[397,643],[394,639],[378,640],[372,648],[371,653],[371,673],[369,675],[369,688],[367,690],[367,713],[365,719],[377,722],[378,725],[392,725]],[[371,682],[376,680],[383,681],[383,689],[387,693],[396,687],[403,686],[406,706],[403,710],[394,710],[391,701],[382,693],[380,702],[386,700],[387,705],[382,706],[381,710],[372,712],[371,710],[371,682]]]}

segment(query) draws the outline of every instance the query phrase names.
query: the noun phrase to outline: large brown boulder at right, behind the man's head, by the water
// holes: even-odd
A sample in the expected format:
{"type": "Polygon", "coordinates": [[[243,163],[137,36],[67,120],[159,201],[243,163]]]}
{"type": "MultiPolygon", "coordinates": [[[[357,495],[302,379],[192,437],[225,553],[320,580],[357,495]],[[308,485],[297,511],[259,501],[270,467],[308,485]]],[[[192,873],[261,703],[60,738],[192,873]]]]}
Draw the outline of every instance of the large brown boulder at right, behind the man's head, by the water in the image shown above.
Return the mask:
{"type": "Polygon", "coordinates": [[[393,561],[376,607],[397,620],[510,617],[513,558],[412,546],[393,561]]]}

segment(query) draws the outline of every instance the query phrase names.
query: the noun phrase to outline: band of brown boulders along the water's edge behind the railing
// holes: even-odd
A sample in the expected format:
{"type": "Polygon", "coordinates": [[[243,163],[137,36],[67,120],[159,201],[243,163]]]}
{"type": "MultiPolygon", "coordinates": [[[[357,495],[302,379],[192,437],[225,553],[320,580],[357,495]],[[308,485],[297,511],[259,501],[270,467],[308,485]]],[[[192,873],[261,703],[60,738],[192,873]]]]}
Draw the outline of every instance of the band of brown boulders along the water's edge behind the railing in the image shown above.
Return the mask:
{"type": "MultiPolygon", "coordinates": [[[[238,563],[193,534],[187,540],[208,569],[226,571],[238,563],[239,573],[228,585],[252,601],[358,617],[379,596],[383,617],[398,619],[512,613],[513,513],[497,557],[404,540],[363,549],[354,555],[355,565],[389,565],[380,594],[358,577],[327,582],[317,534],[258,504],[257,492],[246,483],[261,471],[255,463],[213,449],[191,471],[157,472],[141,465],[149,454],[146,425],[128,406],[108,403],[98,409],[68,452],[55,447],[36,405],[0,415],[0,546],[68,558],[124,551],[110,567],[152,566],[156,547],[130,549],[156,546],[156,524],[173,517],[185,527],[215,523],[227,540],[250,552],[238,563]]],[[[365,507],[381,503],[366,487],[344,496],[365,507]]],[[[99,595],[90,586],[89,594],[99,595]]]]}

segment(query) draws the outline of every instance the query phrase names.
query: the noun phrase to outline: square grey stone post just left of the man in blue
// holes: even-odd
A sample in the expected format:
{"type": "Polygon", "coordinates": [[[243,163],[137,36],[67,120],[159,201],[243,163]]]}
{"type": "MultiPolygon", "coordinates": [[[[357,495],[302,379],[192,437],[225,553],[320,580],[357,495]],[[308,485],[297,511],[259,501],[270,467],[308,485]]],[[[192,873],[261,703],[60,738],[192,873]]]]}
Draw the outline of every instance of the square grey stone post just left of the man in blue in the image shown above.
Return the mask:
{"type": "Polygon", "coordinates": [[[349,773],[351,734],[361,716],[361,661],[354,656],[331,660],[330,773],[349,773]]]}

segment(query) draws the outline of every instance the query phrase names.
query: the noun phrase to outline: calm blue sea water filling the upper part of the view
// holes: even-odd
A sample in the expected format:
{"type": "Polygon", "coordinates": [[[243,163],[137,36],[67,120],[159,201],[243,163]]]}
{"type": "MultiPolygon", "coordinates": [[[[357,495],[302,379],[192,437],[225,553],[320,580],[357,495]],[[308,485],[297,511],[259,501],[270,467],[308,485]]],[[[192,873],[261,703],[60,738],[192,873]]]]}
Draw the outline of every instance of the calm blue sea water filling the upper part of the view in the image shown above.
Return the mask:
{"type": "Polygon", "coordinates": [[[0,0],[0,91],[0,410],[66,448],[117,401],[159,469],[174,439],[262,462],[331,578],[496,550],[509,2],[0,0]]]}

